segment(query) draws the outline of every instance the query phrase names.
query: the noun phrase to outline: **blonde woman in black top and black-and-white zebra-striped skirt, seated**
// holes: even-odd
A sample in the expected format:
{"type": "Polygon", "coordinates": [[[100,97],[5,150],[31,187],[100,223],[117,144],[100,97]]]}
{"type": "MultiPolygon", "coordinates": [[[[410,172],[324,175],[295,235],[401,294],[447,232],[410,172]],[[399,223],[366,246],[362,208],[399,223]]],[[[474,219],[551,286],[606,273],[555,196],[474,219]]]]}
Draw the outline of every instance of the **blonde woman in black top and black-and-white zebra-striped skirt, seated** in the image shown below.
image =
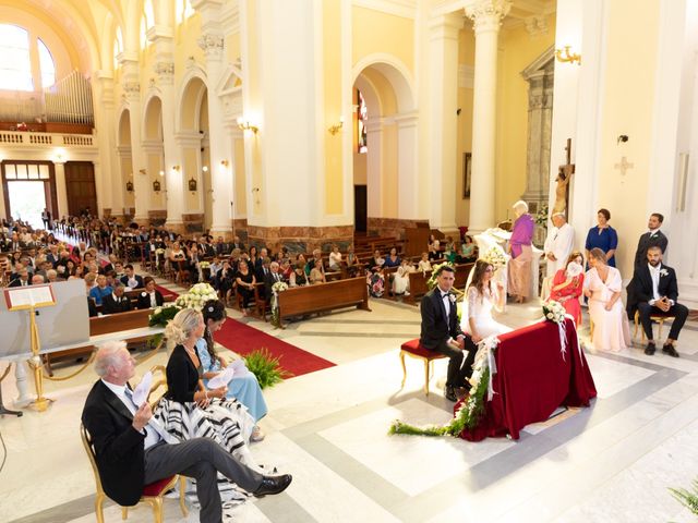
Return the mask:
{"type": "MultiPolygon", "coordinates": [[[[248,409],[226,398],[226,386],[206,389],[202,382],[204,368],[196,341],[204,336],[205,327],[200,312],[184,308],[165,328],[171,351],[166,369],[167,392],[154,416],[178,440],[210,438],[245,465],[258,470],[248,448],[255,425],[248,409]]],[[[218,486],[226,499],[246,497],[221,475],[218,486]]]]}

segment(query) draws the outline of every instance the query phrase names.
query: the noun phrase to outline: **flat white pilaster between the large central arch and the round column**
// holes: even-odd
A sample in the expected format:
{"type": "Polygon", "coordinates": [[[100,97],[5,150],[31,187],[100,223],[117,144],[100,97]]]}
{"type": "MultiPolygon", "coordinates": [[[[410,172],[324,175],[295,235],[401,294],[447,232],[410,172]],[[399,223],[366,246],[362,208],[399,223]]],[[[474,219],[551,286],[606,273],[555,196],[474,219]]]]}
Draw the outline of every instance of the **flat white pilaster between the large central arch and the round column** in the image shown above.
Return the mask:
{"type": "Polygon", "coordinates": [[[459,168],[455,154],[458,136],[458,31],[462,27],[462,17],[452,13],[432,19],[429,25],[429,221],[432,228],[453,232],[456,230],[455,194],[459,168]]]}

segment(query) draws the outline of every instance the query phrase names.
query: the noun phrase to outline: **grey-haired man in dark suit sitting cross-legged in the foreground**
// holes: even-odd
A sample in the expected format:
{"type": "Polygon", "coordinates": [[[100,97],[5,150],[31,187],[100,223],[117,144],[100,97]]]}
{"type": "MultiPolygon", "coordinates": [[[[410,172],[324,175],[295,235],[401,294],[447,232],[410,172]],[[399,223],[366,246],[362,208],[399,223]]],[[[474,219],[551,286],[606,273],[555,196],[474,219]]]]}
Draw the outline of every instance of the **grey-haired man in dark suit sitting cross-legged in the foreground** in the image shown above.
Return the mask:
{"type": "Polygon", "coordinates": [[[135,360],[122,341],[103,345],[95,357],[100,376],[87,394],[82,422],[91,435],[101,486],[123,507],[135,504],[144,485],[183,474],[196,479],[200,521],[222,521],[217,472],[255,496],[278,494],[291,476],[263,476],[240,463],[208,438],[177,445],[155,419],[147,401],[133,402],[128,380],[135,374],[135,360]]]}

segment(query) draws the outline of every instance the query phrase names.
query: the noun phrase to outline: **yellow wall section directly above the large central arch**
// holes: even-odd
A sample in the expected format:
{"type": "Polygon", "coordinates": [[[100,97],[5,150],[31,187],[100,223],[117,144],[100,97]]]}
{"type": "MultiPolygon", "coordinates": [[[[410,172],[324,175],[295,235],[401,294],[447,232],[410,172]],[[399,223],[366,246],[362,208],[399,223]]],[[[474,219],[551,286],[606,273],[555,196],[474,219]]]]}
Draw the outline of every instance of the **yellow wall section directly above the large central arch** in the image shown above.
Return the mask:
{"type": "Polygon", "coordinates": [[[371,9],[351,8],[352,63],[373,53],[397,57],[414,70],[414,21],[371,9]]]}

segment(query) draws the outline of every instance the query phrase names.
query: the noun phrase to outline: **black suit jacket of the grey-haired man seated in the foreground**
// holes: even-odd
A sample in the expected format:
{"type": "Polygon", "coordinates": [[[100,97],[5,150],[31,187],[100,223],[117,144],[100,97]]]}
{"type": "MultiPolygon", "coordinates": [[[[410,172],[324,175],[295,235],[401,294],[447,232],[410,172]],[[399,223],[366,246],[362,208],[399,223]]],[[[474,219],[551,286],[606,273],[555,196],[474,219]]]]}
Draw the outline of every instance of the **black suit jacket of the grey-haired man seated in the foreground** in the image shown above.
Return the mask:
{"type": "Polygon", "coordinates": [[[134,506],[143,494],[145,435],[133,428],[133,415],[99,380],[87,394],[82,422],[92,436],[105,492],[123,507],[134,506]]]}

